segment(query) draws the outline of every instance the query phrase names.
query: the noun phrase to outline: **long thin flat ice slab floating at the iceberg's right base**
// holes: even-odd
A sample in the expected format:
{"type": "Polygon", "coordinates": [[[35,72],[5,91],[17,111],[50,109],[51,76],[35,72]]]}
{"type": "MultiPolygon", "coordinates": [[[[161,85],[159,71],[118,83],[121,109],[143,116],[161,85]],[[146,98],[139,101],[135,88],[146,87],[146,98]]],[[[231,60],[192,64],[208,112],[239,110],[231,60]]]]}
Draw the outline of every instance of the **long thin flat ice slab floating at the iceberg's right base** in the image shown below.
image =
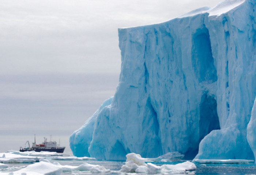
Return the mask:
{"type": "Polygon", "coordinates": [[[228,160],[203,160],[203,159],[194,159],[192,162],[195,163],[216,163],[216,164],[249,164],[254,163],[254,160],[244,160],[244,159],[228,159],[228,160]]]}

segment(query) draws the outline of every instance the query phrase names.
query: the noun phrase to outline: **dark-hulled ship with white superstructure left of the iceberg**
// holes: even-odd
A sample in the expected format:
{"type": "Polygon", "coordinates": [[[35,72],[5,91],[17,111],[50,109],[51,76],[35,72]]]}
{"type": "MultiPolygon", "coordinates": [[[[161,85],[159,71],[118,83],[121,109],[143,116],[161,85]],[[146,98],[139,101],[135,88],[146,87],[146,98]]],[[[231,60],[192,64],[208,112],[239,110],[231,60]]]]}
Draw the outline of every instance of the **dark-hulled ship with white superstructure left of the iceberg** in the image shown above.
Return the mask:
{"type": "MultiPolygon", "coordinates": [[[[25,143],[29,144],[29,141],[27,141],[25,143]]],[[[41,144],[36,144],[35,142],[32,143],[32,147],[26,147],[26,148],[22,148],[20,147],[20,152],[25,152],[25,151],[36,151],[36,152],[40,152],[40,151],[49,151],[49,152],[58,152],[58,153],[63,153],[65,150],[65,147],[60,147],[60,144],[57,144],[56,141],[52,141],[52,139],[50,140],[50,142],[47,141],[47,138],[44,138],[44,142],[41,144]]]]}

